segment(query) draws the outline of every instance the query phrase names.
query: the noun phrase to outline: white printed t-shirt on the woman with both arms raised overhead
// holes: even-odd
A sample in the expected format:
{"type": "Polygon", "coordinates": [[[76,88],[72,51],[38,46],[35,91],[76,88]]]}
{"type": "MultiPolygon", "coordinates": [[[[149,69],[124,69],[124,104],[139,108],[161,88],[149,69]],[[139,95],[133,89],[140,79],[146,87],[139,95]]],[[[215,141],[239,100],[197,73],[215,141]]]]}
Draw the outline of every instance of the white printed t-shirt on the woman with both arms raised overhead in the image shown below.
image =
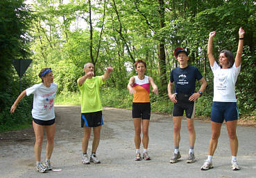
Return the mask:
{"type": "Polygon", "coordinates": [[[216,61],[211,67],[214,73],[214,98],[213,101],[219,102],[237,102],[234,85],[237,82],[237,76],[241,70],[241,65],[237,68],[222,69],[216,61]]]}

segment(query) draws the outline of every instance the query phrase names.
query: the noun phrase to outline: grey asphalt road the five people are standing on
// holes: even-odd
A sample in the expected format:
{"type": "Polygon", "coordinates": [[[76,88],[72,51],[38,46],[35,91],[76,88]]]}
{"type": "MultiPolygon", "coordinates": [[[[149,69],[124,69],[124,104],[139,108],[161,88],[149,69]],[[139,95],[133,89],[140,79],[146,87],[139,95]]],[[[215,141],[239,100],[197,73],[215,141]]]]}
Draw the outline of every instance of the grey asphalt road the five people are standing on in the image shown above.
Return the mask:
{"type": "MultiPolygon", "coordinates": [[[[0,177],[256,177],[256,128],[237,127],[238,163],[231,169],[231,153],[225,124],[221,130],[211,170],[200,170],[207,157],[210,122],[195,121],[196,162],[187,164],[189,150],[186,120],[182,121],[181,161],[169,164],[173,155],[173,123],[169,115],[151,114],[148,153],[151,161],[134,161],[134,128],[130,110],[104,108],[104,125],[97,155],[101,164],[81,164],[80,106],[56,106],[56,146],[51,164],[60,172],[35,171],[33,129],[0,134],[0,177]]],[[[42,159],[45,157],[44,141],[42,159]]],[[[92,139],[89,141],[91,152],[92,139]]],[[[142,149],[141,149],[142,150],[142,149]]]]}

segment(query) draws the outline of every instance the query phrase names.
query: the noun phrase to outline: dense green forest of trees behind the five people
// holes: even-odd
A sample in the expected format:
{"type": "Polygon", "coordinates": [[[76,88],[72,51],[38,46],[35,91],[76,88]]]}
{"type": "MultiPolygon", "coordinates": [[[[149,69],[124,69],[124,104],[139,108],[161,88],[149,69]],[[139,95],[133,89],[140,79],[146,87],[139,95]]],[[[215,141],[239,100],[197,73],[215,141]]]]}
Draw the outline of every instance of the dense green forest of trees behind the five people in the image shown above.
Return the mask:
{"type": "MultiPolygon", "coordinates": [[[[178,63],[176,47],[189,51],[208,86],[198,100],[199,115],[209,116],[213,76],[207,59],[209,32],[215,30],[214,54],[237,52],[238,30],[243,27],[244,52],[236,93],[242,116],[256,115],[256,1],[253,0],[2,0],[0,1],[0,130],[31,121],[32,97],[25,97],[17,111],[10,106],[19,95],[19,77],[12,59],[33,59],[22,78],[22,90],[39,83],[41,68],[52,68],[58,95],[78,93],[77,79],[83,65],[94,63],[96,75],[107,66],[114,71],[105,87],[105,100],[131,103],[126,86],[135,75],[137,59],[147,63],[147,75],[160,88],[153,106],[171,112],[167,96],[169,73],[178,63]],[[111,89],[109,89],[111,88],[111,89]],[[113,97],[113,93],[118,97],[113,97]],[[157,104],[155,104],[157,103],[157,104]]],[[[103,96],[103,97],[104,97],[103,96]]],[[[108,101],[107,103],[114,103],[108,101]]],[[[119,105],[120,106],[120,105],[119,105]]],[[[255,118],[255,117],[254,117],[255,118]]]]}

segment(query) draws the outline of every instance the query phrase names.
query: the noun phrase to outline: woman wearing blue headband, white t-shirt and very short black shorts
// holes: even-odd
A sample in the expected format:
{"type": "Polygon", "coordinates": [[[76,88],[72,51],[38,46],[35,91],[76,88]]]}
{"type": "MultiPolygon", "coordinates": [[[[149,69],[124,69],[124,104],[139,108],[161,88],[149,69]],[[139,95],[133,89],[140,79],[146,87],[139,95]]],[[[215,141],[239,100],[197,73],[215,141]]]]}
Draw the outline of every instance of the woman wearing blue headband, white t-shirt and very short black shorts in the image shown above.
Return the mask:
{"type": "Polygon", "coordinates": [[[24,90],[15,103],[10,108],[10,112],[15,112],[19,101],[25,95],[33,94],[33,128],[35,132],[35,160],[36,169],[38,172],[45,172],[51,170],[50,158],[54,147],[54,136],[56,132],[55,113],[54,113],[54,98],[57,92],[57,84],[53,83],[53,72],[51,68],[43,68],[39,75],[42,83],[35,84],[31,88],[24,90]],[[46,131],[46,160],[41,163],[42,141],[44,137],[44,130],[46,131]]]}

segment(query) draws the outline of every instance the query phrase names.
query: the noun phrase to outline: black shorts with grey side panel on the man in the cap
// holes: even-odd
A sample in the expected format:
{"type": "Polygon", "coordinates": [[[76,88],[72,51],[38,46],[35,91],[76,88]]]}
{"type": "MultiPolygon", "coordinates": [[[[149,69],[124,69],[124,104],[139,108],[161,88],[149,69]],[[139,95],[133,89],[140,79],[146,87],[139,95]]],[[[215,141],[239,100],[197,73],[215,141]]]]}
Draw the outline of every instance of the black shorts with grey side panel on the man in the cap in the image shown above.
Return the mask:
{"type": "Polygon", "coordinates": [[[186,112],[186,117],[189,119],[194,119],[196,112],[196,104],[194,101],[189,101],[191,95],[178,94],[176,96],[177,103],[173,104],[173,116],[179,117],[184,115],[184,110],[186,112]]]}

